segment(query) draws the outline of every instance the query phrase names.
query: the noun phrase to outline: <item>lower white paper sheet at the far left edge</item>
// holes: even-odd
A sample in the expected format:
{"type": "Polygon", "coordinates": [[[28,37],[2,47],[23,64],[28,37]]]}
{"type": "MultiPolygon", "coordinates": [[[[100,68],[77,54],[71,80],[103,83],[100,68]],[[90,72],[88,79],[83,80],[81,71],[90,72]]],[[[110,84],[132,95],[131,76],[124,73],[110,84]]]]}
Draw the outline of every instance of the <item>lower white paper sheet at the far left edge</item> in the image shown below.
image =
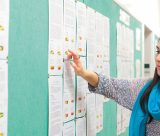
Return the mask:
{"type": "Polygon", "coordinates": [[[8,128],[8,64],[0,60],[0,134],[7,136],[8,128]]]}

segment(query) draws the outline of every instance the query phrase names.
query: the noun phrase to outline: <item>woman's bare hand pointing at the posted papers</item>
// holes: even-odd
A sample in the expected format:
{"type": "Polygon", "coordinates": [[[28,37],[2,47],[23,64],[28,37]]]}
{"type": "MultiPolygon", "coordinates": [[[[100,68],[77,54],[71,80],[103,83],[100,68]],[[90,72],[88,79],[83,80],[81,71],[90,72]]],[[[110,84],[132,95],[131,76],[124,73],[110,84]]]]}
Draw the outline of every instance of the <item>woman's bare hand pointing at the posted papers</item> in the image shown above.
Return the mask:
{"type": "Polygon", "coordinates": [[[68,50],[68,55],[67,58],[69,60],[73,59],[73,61],[71,61],[71,65],[74,68],[74,71],[77,75],[79,76],[84,76],[84,72],[85,69],[82,66],[82,63],[80,61],[80,57],[78,56],[78,54],[76,54],[75,52],[68,50]]]}

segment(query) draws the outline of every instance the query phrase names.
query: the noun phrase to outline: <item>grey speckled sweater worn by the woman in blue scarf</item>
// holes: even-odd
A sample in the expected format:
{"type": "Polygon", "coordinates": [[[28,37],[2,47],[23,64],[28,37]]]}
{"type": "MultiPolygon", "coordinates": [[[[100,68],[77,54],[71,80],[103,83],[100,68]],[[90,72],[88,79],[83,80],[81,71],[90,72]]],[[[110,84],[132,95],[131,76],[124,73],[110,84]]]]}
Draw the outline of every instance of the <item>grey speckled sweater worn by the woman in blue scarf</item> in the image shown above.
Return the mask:
{"type": "MultiPolygon", "coordinates": [[[[95,88],[89,84],[90,92],[102,94],[118,104],[132,110],[136,97],[148,79],[107,78],[99,74],[99,83],[95,88]]],[[[160,121],[153,120],[146,126],[146,136],[160,136],[160,121]]]]}

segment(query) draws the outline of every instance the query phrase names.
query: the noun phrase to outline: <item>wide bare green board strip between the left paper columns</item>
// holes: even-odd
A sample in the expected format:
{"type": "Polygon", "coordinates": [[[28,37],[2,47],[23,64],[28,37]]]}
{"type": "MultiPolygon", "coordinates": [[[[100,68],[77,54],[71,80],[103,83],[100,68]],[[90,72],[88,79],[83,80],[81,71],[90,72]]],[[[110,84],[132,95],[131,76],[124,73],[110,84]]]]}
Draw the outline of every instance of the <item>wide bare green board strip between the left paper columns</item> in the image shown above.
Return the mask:
{"type": "Polygon", "coordinates": [[[48,2],[10,1],[8,136],[48,133],[48,2]]]}

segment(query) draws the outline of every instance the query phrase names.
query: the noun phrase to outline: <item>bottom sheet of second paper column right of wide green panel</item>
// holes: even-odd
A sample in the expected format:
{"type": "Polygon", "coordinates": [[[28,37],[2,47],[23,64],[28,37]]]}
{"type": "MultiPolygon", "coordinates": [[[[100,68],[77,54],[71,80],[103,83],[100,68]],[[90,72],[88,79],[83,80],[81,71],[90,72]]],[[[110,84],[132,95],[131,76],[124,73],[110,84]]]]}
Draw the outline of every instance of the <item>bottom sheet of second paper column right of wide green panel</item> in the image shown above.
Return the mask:
{"type": "Polygon", "coordinates": [[[63,126],[63,136],[75,136],[75,122],[70,121],[63,126]]]}

